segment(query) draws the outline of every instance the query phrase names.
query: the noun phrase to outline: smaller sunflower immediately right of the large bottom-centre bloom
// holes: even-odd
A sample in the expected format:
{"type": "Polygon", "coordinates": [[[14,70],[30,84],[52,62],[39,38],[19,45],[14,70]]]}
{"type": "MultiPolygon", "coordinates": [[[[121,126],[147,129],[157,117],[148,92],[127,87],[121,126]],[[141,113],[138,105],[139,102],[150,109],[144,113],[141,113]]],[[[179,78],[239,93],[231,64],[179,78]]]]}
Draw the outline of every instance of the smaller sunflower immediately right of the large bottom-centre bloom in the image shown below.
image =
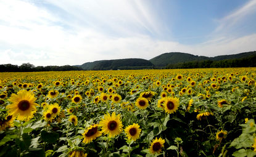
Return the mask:
{"type": "Polygon", "coordinates": [[[139,124],[130,125],[125,128],[125,133],[128,137],[128,139],[133,139],[136,141],[139,138],[139,135],[141,134],[141,129],[139,129],[139,124]]]}

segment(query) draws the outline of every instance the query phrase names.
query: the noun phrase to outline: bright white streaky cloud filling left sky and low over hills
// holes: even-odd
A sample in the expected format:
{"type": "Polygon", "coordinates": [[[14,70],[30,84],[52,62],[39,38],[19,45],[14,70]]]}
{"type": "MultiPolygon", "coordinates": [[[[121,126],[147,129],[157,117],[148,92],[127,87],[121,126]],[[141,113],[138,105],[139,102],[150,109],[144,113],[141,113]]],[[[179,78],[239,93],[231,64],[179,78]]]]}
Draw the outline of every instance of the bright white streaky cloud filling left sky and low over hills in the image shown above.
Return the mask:
{"type": "Polygon", "coordinates": [[[256,49],[256,34],[223,35],[189,46],[154,39],[141,30],[159,34],[161,25],[142,1],[48,2],[65,10],[62,17],[74,19],[60,18],[30,1],[0,1],[0,55],[4,58],[0,64],[81,65],[117,58],[151,59],[165,52],[215,56],[256,49]],[[121,35],[110,36],[104,26],[121,35]]]}

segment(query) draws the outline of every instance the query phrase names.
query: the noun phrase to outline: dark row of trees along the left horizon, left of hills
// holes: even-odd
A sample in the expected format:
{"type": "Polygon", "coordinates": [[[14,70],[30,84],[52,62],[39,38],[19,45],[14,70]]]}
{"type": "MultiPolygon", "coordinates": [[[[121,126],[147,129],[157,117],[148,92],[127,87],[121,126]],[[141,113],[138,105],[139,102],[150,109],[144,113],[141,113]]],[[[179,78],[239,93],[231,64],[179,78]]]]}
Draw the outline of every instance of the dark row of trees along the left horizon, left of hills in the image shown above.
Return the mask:
{"type": "Polygon", "coordinates": [[[78,66],[35,66],[30,63],[23,63],[22,65],[3,64],[0,65],[0,72],[30,72],[30,71],[72,71],[82,70],[78,66]]]}

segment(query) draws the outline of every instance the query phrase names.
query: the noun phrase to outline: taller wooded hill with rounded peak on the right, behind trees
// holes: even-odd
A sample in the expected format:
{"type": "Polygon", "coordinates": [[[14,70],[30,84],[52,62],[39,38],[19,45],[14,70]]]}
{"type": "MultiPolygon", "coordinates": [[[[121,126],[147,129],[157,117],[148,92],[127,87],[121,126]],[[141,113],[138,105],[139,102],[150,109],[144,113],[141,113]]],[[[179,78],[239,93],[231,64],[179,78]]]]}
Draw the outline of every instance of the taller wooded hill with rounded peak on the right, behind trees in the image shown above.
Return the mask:
{"type": "Polygon", "coordinates": [[[175,65],[176,63],[200,62],[204,60],[219,61],[219,60],[239,59],[239,58],[250,57],[252,55],[256,55],[256,51],[244,52],[244,53],[233,54],[233,55],[219,55],[216,57],[198,56],[198,55],[186,54],[182,52],[169,52],[169,53],[161,54],[157,57],[154,57],[149,61],[151,61],[156,68],[163,68],[170,64],[175,65]]]}

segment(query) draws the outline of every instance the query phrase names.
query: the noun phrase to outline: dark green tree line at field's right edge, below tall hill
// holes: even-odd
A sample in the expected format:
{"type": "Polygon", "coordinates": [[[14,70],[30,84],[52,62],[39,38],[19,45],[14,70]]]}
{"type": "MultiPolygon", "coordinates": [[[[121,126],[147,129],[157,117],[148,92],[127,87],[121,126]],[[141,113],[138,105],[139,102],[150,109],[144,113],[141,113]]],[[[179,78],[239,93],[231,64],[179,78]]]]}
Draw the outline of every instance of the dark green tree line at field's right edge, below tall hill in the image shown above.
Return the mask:
{"type": "Polygon", "coordinates": [[[246,58],[240,59],[228,59],[228,60],[203,60],[193,61],[185,63],[169,64],[166,68],[178,69],[178,68],[236,68],[236,67],[256,67],[256,55],[252,55],[246,58]]]}

